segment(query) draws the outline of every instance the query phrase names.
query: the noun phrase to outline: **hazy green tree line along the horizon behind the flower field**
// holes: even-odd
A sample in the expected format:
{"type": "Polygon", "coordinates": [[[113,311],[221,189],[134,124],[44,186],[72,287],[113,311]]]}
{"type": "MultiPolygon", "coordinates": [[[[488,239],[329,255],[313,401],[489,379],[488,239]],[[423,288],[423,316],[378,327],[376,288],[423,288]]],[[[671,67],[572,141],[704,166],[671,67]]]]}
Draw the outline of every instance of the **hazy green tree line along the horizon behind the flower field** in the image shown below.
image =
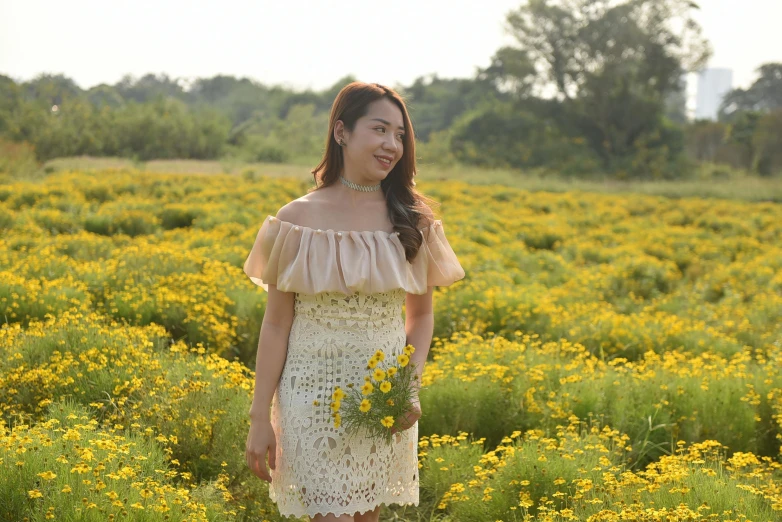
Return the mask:
{"type": "MultiPolygon", "coordinates": [[[[678,179],[698,162],[782,173],[782,64],[689,122],[684,75],[711,55],[690,0],[529,0],[515,43],[472,78],[395,85],[427,162],[550,169],[566,176],[678,179]]],[[[313,162],[331,103],[355,78],[296,92],[232,76],[126,76],[81,89],[62,75],[0,75],[0,155],[313,162]]],[[[0,160],[2,169],[2,160],[0,160]]]]}

